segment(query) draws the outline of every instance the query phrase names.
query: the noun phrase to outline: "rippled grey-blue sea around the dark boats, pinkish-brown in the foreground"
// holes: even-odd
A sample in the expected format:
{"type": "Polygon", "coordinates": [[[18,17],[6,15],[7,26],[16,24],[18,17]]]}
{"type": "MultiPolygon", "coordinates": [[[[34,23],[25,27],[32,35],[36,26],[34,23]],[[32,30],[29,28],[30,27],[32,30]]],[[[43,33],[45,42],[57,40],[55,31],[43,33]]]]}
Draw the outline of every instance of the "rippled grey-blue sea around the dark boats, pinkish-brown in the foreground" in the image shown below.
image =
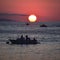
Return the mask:
{"type": "Polygon", "coordinates": [[[60,27],[40,27],[39,23],[0,22],[0,60],[60,60],[60,27]],[[11,45],[9,39],[28,35],[40,44],[11,45]]]}

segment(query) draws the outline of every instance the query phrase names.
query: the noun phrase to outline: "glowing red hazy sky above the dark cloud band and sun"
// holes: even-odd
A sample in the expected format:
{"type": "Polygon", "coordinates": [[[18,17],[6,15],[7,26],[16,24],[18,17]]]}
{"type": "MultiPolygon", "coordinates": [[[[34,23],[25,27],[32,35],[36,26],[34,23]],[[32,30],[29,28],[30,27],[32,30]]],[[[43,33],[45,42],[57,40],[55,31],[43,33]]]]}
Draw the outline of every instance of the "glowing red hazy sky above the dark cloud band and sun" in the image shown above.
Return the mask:
{"type": "Polygon", "coordinates": [[[60,0],[0,0],[0,13],[35,14],[45,20],[60,20],[60,0]]]}

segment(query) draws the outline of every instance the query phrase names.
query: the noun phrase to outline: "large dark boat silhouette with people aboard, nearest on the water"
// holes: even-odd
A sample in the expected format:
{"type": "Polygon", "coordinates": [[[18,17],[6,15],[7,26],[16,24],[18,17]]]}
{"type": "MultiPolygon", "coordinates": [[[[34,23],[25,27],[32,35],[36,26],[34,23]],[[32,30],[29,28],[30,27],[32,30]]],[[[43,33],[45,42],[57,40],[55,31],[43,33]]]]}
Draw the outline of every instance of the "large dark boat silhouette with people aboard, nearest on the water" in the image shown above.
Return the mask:
{"type": "Polygon", "coordinates": [[[26,38],[23,37],[23,35],[21,35],[20,38],[17,38],[16,40],[13,39],[8,39],[8,41],[6,42],[7,44],[38,44],[38,41],[33,38],[32,40],[28,37],[28,35],[26,35],[26,38]]]}

